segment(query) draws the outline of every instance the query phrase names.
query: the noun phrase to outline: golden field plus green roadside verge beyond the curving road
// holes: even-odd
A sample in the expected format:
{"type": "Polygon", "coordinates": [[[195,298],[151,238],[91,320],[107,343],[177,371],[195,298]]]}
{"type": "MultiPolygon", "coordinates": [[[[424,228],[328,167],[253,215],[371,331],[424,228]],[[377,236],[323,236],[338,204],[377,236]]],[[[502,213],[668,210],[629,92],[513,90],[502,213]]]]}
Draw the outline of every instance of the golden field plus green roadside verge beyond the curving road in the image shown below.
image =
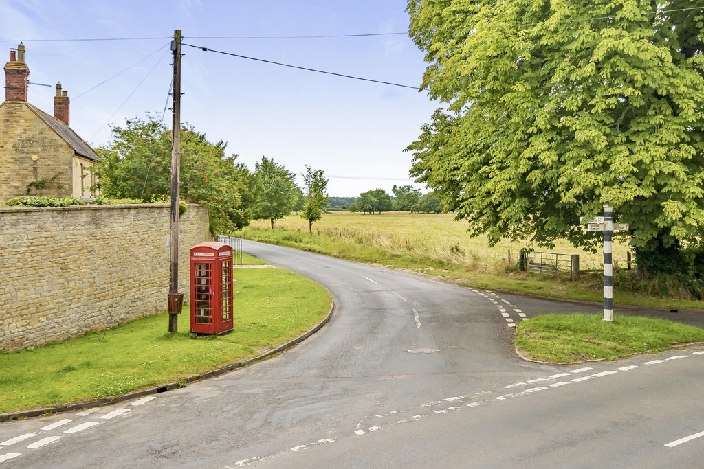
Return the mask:
{"type": "MultiPolygon", "coordinates": [[[[527,243],[503,241],[490,248],[486,238],[470,238],[466,223],[454,221],[452,214],[332,212],[324,214],[313,226],[312,235],[308,234],[305,220],[291,215],[278,220],[273,231],[269,229],[268,221],[253,221],[241,231],[241,236],[343,259],[410,269],[477,288],[572,300],[603,300],[601,252],[586,252],[573,248],[566,241],[558,241],[552,252],[579,254],[580,280],[573,282],[567,275],[526,274],[517,270],[516,262],[520,248],[526,247],[527,243]]],[[[617,266],[627,266],[628,250],[624,240],[615,241],[613,257],[617,266]]],[[[617,284],[614,300],[619,304],[646,307],[704,309],[704,302],[689,299],[684,291],[667,291],[665,296],[648,295],[643,291],[620,288],[617,284]]]]}

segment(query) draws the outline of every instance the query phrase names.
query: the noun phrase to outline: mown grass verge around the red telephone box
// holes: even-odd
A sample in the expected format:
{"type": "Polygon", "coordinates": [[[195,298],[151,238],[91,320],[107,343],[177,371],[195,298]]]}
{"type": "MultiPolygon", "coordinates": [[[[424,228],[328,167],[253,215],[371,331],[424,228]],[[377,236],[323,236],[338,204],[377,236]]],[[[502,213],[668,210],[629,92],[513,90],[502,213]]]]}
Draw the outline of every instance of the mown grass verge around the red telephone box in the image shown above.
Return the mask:
{"type": "Polygon", "coordinates": [[[327,290],[289,271],[237,269],[234,276],[234,331],[228,335],[196,338],[185,306],[179,333],[168,333],[167,314],[157,314],[0,354],[0,412],[115,396],[259,356],[315,326],[332,304],[327,290]]]}

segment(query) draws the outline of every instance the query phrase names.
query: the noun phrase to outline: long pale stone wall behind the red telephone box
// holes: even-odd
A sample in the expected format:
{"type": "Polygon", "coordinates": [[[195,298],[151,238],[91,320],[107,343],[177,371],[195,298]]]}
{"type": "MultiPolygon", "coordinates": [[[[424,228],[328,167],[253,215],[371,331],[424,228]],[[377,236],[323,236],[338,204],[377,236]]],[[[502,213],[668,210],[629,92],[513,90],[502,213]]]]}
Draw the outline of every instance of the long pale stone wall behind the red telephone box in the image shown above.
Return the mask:
{"type": "MultiPolygon", "coordinates": [[[[0,350],[165,311],[169,214],[166,204],[0,207],[0,350]]],[[[189,205],[180,237],[188,302],[189,248],[212,240],[206,207],[189,205]]]]}

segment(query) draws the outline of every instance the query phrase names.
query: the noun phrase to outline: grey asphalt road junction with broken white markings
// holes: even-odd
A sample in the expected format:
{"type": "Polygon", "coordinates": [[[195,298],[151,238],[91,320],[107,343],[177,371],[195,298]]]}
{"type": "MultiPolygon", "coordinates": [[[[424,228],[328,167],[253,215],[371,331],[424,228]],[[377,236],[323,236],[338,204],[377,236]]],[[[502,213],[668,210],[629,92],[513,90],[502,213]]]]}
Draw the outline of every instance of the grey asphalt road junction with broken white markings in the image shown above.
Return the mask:
{"type": "Polygon", "coordinates": [[[2,424],[0,464],[704,465],[704,347],[610,363],[533,364],[511,352],[511,324],[551,308],[598,307],[473,290],[271,245],[245,242],[244,250],[324,285],[336,304],[332,320],[293,349],[220,378],[153,399],[2,424]]]}

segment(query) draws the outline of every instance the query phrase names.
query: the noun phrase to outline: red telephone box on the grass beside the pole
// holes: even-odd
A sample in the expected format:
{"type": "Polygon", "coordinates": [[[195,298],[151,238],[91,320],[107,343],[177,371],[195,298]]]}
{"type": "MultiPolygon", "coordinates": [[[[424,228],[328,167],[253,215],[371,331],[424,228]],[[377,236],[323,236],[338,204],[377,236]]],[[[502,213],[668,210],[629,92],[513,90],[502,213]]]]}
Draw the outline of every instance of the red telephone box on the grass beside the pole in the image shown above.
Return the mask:
{"type": "Polygon", "coordinates": [[[191,248],[191,332],[232,331],[232,248],[201,243],[191,248]]]}

